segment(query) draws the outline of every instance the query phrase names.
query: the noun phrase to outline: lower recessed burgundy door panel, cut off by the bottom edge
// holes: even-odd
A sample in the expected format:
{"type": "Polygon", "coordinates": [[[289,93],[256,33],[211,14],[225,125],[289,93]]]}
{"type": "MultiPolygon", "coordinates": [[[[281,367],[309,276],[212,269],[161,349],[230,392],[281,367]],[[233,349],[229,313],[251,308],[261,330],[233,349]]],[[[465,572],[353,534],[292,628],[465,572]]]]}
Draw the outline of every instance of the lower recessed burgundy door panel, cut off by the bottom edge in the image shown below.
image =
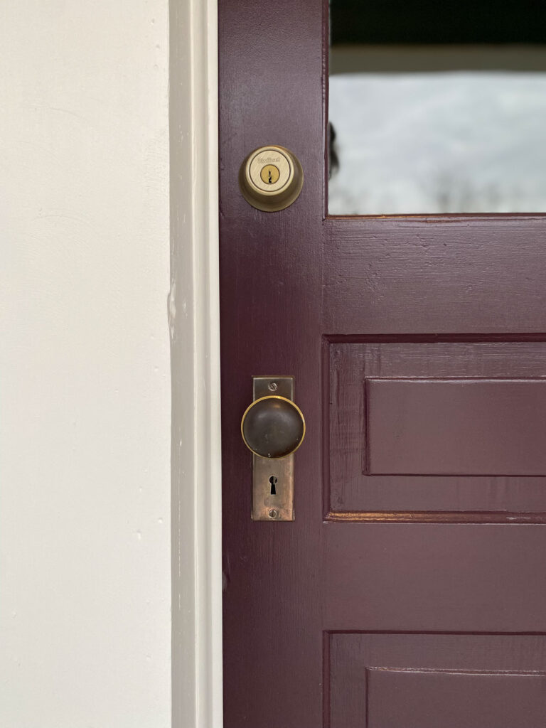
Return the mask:
{"type": "Polygon", "coordinates": [[[529,635],[330,633],[331,728],[537,728],[545,646],[529,635]]]}

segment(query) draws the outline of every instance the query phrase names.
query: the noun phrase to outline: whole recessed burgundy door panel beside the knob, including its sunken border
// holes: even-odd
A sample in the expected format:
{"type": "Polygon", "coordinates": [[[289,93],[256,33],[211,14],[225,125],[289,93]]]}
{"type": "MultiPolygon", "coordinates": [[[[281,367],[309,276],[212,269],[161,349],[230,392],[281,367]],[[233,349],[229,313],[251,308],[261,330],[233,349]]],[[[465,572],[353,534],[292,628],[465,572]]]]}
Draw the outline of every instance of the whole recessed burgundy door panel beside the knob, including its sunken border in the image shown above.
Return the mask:
{"type": "Polygon", "coordinates": [[[545,342],[331,337],[324,362],[328,518],[543,520],[545,342]]]}

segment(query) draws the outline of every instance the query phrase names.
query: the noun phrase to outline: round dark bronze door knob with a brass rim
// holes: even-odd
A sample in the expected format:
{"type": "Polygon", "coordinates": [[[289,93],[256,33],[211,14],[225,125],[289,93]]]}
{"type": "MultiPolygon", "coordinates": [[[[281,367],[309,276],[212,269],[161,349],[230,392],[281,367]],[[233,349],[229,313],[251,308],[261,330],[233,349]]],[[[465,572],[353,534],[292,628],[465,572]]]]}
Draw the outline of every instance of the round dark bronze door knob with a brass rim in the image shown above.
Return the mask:
{"type": "Polygon", "coordinates": [[[286,457],[304,440],[304,415],[298,405],[286,397],[260,397],[242,416],[241,433],[245,445],[255,455],[286,457]]]}

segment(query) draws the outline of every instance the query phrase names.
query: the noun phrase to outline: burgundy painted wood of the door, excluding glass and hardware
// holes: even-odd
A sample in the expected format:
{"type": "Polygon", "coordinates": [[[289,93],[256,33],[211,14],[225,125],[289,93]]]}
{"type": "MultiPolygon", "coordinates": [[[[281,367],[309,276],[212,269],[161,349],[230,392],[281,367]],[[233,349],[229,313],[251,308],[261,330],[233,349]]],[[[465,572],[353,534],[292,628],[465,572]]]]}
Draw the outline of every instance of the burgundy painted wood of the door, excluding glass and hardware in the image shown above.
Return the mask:
{"type": "Polygon", "coordinates": [[[325,214],[325,7],[221,0],[226,728],[546,716],[546,221],[325,214]],[[288,209],[239,167],[280,144],[288,209]],[[290,374],[296,521],[250,520],[240,418],[290,374]]]}

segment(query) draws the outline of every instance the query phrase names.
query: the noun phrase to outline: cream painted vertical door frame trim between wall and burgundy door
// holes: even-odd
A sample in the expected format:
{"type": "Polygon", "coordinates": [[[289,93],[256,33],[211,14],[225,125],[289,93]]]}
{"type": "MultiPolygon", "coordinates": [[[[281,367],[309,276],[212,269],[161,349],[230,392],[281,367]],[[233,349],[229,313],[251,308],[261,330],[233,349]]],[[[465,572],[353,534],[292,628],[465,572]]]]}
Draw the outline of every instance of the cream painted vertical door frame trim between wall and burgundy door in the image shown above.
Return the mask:
{"type": "Polygon", "coordinates": [[[216,0],[170,2],[173,728],[221,728],[216,0]]]}

